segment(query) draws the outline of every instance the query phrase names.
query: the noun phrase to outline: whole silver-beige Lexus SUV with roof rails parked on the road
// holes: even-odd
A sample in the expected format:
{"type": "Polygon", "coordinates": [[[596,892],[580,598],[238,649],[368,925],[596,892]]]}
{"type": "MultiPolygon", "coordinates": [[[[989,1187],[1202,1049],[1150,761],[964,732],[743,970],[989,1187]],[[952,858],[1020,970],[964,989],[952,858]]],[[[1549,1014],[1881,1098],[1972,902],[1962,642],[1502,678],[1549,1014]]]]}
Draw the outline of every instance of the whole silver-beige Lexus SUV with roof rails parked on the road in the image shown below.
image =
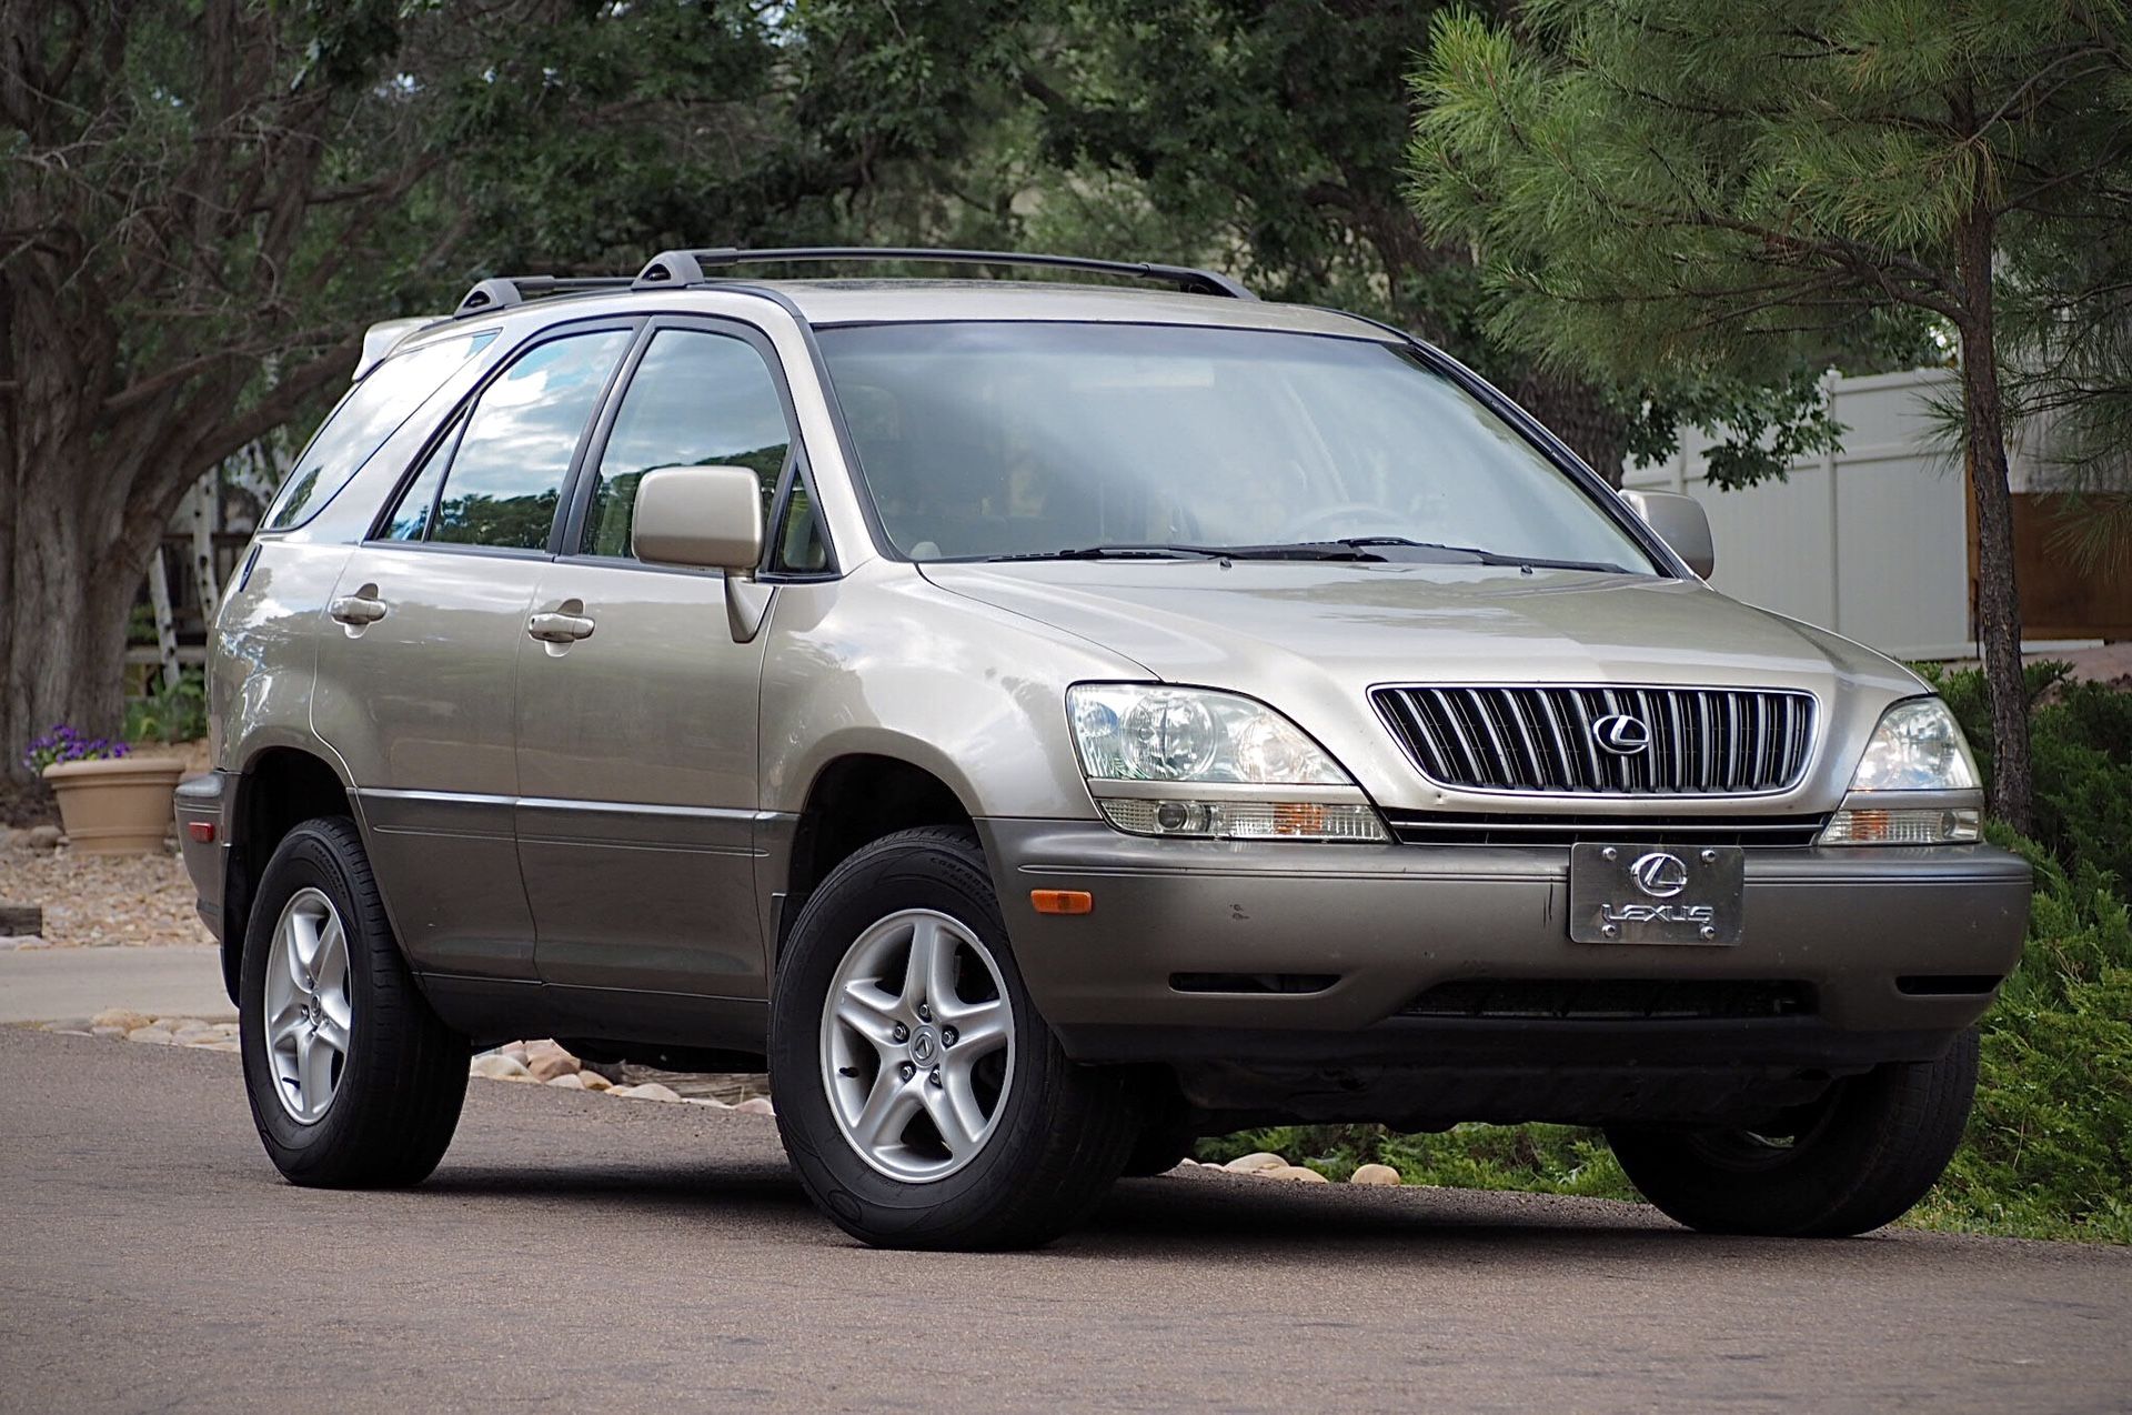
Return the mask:
{"type": "Polygon", "coordinates": [[[881,256],[373,330],[179,799],[284,1174],[420,1181],[556,1036],[768,1066],[878,1245],[1277,1121],[1601,1125],[1701,1230],[1925,1193],[2030,878],[1919,678],[1369,320],[736,275],[881,256]]]}

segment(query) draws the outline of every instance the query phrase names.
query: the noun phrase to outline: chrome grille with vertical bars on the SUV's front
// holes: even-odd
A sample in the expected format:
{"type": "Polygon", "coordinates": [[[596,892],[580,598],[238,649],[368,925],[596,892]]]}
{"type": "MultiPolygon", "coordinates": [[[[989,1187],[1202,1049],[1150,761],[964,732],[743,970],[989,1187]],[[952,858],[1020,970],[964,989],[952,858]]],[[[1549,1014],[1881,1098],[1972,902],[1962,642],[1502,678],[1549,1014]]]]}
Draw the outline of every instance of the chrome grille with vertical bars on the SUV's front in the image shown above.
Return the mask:
{"type": "Polygon", "coordinates": [[[1377,688],[1392,735],[1431,780],[1550,795],[1757,795],[1806,774],[1808,693],[1757,688],[1377,688]],[[1633,718],[1635,752],[1593,725],[1633,718]]]}

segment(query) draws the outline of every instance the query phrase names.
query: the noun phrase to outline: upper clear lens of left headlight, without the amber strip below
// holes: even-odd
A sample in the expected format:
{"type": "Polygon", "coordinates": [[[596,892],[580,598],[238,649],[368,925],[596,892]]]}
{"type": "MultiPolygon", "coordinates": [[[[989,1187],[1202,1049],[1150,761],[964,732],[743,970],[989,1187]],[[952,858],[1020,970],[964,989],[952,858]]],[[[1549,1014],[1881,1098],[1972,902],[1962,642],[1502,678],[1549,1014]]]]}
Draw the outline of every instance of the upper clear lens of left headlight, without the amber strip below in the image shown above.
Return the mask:
{"type": "Polygon", "coordinates": [[[1081,684],[1066,693],[1066,708],[1089,780],[1352,784],[1294,722],[1232,693],[1081,684]]]}

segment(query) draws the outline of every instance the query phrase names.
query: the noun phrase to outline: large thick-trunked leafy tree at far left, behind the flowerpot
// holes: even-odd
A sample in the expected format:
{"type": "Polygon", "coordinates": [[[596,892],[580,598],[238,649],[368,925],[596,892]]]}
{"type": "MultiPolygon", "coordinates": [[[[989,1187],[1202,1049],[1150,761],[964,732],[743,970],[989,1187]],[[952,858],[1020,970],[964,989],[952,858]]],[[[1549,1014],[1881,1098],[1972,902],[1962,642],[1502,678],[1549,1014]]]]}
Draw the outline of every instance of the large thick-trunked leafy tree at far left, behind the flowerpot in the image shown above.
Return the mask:
{"type": "Polygon", "coordinates": [[[804,83],[744,0],[0,0],[0,742],[117,727],[171,511],[371,320],[825,209],[804,83]]]}

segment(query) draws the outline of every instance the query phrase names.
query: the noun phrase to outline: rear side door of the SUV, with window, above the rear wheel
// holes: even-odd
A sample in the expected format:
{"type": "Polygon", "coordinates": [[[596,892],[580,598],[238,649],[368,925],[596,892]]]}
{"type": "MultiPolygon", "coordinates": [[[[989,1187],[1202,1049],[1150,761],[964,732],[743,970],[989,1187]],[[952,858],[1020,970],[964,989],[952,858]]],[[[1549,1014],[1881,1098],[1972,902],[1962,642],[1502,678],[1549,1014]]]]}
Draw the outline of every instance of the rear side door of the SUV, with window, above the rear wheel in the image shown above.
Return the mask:
{"type": "Polygon", "coordinates": [[[633,332],[563,326],[510,358],[416,458],[335,586],[311,725],[348,763],[377,884],[426,972],[533,978],[512,840],[518,646],[633,332]]]}

